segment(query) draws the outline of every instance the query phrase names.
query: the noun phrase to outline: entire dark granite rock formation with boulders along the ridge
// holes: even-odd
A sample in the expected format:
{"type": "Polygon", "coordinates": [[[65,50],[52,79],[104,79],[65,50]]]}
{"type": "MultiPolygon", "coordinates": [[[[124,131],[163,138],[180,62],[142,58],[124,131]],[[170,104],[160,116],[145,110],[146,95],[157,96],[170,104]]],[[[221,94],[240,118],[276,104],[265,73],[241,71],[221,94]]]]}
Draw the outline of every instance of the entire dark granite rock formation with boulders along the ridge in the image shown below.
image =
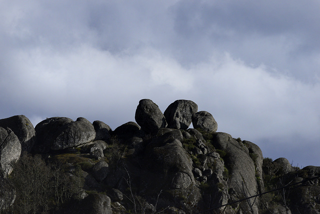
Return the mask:
{"type": "Polygon", "coordinates": [[[30,174],[18,174],[14,162],[41,154],[44,171],[35,168],[32,175],[44,173],[39,177],[55,181],[49,185],[55,191],[43,196],[46,206],[38,211],[320,213],[320,166],[299,169],[283,157],[263,158],[253,142],[216,132],[212,114],[197,112],[193,101],[176,100],[162,114],[142,99],[135,120],[112,131],[83,117],[51,117],[34,129],[22,115],[0,119],[0,211],[26,200],[10,185],[30,174]],[[20,156],[21,147],[26,153],[20,156]]]}

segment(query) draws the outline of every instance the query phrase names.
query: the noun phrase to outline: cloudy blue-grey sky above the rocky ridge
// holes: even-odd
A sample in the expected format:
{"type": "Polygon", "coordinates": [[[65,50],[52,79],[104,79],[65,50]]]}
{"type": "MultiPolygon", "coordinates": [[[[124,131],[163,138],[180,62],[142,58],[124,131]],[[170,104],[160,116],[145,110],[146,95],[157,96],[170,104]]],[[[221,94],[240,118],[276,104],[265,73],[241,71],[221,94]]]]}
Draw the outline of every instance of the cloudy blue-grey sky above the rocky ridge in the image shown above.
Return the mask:
{"type": "Polygon", "coordinates": [[[320,1],[0,0],[0,118],[135,121],[188,99],[264,157],[320,166],[320,1]]]}

